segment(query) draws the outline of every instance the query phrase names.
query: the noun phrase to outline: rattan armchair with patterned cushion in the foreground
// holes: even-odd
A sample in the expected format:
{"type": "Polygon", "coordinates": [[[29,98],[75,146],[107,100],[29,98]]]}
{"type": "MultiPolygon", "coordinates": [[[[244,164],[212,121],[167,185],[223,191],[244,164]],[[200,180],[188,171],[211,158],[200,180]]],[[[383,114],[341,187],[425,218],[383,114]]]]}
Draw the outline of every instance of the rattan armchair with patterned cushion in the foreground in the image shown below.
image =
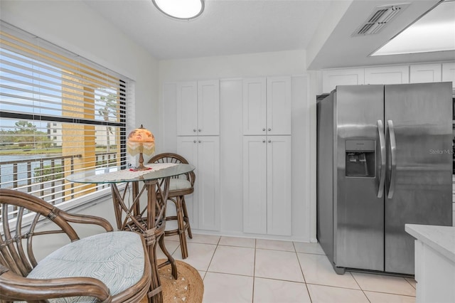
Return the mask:
{"type": "Polygon", "coordinates": [[[0,302],[139,302],[148,292],[151,267],[139,233],[112,231],[103,218],[70,214],[10,189],[0,189],[0,207],[0,302]],[[108,233],[79,239],[70,223],[108,233]],[[70,243],[37,262],[32,239],[48,245],[55,234],[70,243]]]}

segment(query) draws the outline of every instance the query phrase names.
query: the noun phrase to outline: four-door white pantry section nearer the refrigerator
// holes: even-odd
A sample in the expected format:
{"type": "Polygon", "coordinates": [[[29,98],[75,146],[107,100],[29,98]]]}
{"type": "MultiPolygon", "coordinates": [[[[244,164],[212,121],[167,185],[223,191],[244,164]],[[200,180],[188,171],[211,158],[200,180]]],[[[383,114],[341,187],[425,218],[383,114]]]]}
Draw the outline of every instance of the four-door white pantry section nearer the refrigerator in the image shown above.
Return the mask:
{"type": "Polygon", "coordinates": [[[243,80],[243,231],[291,235],[291,77],[243,80]]]}

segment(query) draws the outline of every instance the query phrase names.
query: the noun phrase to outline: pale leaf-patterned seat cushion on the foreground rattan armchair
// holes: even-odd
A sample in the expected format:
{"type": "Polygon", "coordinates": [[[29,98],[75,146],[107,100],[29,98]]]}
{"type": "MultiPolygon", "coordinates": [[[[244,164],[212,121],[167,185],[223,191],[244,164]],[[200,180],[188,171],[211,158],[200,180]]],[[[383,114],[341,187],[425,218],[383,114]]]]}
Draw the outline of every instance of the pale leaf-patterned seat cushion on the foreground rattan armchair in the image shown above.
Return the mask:
{"type": "MultiPolygon", "coordinates": [[[[63,246],[45,257],[29,278],[93,277],[112,295],[135,285],[144,275],[141,235],[128,231],[100,233],[63,246]]],[[[50,302],[97,302],[93,297],[50,299],[50,302]]]]}

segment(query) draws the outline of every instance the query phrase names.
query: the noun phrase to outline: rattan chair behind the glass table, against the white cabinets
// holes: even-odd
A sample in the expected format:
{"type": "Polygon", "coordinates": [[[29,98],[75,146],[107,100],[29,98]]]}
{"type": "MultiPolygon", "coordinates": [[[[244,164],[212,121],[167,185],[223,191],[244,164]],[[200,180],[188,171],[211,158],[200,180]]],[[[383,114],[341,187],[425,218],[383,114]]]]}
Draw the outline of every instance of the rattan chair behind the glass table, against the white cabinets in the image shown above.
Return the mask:
{"type": "MultiPolygon", "coordinates": [[[[188,164],[183,156],[172,153],[157,154],[149,160],[149,163],[176,163],[188,164]]],[[[174,176],[169,183],[168,200],[173,201],[176,205],[176,216],[166,216],[167,220],[177,220],[177,228],[174,230],[166,230],[164,235],[178,235],[180,238],[180,246],[182,258],[188,257],[188,247],[186,245],[186,232],[188,236],[193,238],[191,234],[191,226],[186,210],[185,195],[189,195],[194,191],[194,181],[196,175],[193,171],[180,176],[174,176]]]]}

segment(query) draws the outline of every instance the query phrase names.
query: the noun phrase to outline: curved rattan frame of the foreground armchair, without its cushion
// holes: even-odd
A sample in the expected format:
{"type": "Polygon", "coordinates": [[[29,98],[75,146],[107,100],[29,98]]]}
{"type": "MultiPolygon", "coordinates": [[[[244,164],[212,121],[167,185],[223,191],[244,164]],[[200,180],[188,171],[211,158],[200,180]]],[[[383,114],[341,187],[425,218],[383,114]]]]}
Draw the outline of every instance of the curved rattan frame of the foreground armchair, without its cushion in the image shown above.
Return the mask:
{"type": "MultiPolygon", "coordinates": [[[[17,299],[41,303],[55,297],[85,295],[97,297],[100,302],[139,302],[144,297],[151,282],[149,262],[145,262],[141,280],[117,297],[109,293],[104,283],[92,277],[27,278],[38,265],[33,243],[41,241],[43,244],[45,239],[49,240],[43,236],[56,234],[66,235],[68,243],[80,239],[70,223],[95,224],[107,232],[113,231],[104,218],[67,213],[31,194],[0,188],[0,302],[17,299]],[[54,224],[44,224],[49,221],[54,224]]],[[[141,241],[148,259],[144,240],[141,241]]]]}

